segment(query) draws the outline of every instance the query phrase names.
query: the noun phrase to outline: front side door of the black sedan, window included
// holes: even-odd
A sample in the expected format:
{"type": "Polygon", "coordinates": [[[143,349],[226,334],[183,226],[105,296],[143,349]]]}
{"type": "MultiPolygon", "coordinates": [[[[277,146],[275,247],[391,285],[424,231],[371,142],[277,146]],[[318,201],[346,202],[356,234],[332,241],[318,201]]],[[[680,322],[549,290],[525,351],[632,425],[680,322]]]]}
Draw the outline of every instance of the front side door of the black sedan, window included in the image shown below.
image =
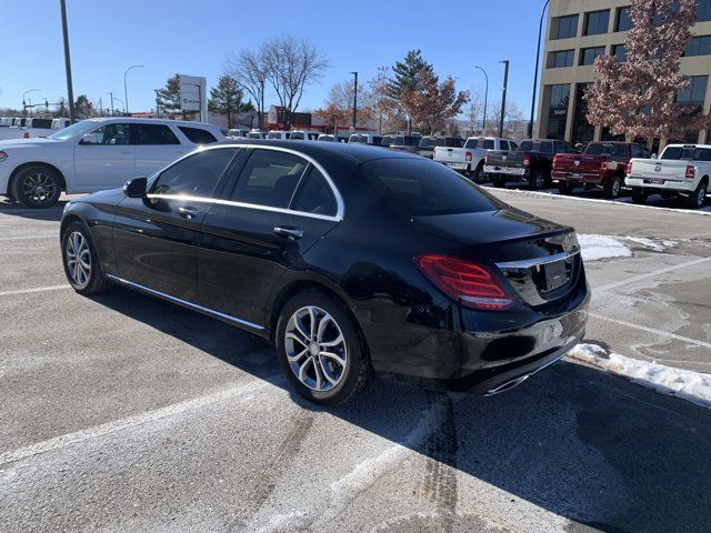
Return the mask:
{"type": "Polygon", "coordinates": [[[146,198],[119,204],[113,249],[122,280],[196,303],[200,227],[238,152],[226,147],[189,155],[152,179],[146,198]]]}

